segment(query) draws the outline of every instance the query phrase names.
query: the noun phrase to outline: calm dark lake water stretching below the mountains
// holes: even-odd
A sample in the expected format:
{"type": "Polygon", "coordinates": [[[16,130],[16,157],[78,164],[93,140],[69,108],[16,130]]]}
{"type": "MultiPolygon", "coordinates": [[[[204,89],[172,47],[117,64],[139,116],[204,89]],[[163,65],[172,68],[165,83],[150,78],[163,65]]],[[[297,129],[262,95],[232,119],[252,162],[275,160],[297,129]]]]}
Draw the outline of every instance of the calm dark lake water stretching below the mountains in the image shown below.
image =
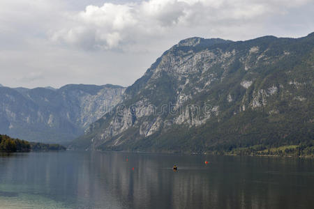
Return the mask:
{"type": "Polygon", "coordinates": [[[0,208],[314,208],[314,160],[0,153],[0,208]]]}

